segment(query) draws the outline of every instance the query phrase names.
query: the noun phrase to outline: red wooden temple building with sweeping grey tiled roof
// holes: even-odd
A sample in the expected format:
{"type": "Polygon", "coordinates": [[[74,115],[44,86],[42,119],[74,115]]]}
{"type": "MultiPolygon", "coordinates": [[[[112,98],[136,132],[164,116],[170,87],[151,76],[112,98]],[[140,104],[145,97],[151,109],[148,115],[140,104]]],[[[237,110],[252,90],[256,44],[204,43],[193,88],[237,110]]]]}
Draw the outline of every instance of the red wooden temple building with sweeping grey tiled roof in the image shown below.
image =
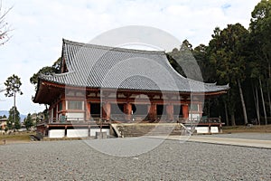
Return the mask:
{"type": "Polygon", "coordinates": [[[50,106],[49,119],[37,129],[53,138],[89,137],[112,123],[197,120],[218,127],[220,121],[201,121],[202,100],[226,93],[229,85],[183,77],[165,52],[63,40],[61,73],[40,75],[37,88],[33,102],[50,106]]]}

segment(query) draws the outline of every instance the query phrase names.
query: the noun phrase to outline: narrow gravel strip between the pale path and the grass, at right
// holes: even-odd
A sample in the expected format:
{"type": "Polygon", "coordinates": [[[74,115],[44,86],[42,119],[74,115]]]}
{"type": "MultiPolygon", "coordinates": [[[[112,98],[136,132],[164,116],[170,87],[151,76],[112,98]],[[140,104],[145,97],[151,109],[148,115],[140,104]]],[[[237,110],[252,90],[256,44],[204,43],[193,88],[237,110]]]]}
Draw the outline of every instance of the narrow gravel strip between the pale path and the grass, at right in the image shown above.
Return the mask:
{"type": "Polygon", "coordinates": [[[271,140],[271,133],[232,133],[232,134],[213,134],[200,135],[201,137],[217,137],[217,138],[248,138],[259,140],[271,140]]]}

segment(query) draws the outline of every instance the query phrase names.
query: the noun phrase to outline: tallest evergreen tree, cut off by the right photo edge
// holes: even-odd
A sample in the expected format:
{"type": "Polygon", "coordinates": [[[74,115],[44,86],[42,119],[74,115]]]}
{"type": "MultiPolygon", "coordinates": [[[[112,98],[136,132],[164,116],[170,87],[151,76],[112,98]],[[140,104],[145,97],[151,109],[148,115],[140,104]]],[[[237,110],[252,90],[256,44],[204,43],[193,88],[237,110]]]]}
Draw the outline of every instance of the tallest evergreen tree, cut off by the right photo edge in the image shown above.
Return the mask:
{"type": "Polygon", "coordinates": [[[267,124],[267,111],[271,116],[271,1],[262,0],[251,13],[250,31],[250,74],[254,90],[257,117],[259,119],[259,88],[262,112],[267,124]],[[267,109],[266,109],[267,108],[267,109]]]}

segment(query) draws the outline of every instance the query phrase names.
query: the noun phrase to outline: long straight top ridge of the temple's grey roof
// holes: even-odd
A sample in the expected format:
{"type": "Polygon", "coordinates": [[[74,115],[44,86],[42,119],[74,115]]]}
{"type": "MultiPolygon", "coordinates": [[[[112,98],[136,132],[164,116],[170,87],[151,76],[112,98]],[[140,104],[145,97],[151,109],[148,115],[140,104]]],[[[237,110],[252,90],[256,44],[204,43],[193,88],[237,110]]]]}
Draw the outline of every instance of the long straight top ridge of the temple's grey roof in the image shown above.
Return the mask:
{"type": "Polygon", "coordinates": [[[67,39],[62,38],[62,42],[65,44],[74,44],[79,46],[86,46],[96,49],[102,49],[102,50],[114,50],[117,52],[136,52],[136,53],[146,53],[146,54],[165,54],[164,51],[146,51],[146,50],[137,50],[137,49],[128,49],[128,48],[121,48],[121,47],[113,47],[113,46],[106,46],[106,45],[100,45],[100,44],[91,44],[91,43],[79,43],[70,41],[67,39]]]}

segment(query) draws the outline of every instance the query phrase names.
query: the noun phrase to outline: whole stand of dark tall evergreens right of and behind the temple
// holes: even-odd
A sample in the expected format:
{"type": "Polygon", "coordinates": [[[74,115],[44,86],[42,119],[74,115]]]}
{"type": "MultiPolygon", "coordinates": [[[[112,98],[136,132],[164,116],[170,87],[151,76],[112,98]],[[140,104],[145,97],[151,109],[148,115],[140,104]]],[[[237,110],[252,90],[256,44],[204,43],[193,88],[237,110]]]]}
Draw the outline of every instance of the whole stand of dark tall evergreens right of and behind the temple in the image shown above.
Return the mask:
{"type": "Polygon", "coordinates": [[[173,58],[183,54],[183,47],[192,51],[203,81],[230,86],[226,95],[205,101],[204,114],[222,116],[233,126],[271,121],[271,1],[255,6],[248,29],[242,24],[216,27],[208,45],[192,48],[185,40],[180,50],[169,52],[173,67],[186,76],[173,58]]]}

